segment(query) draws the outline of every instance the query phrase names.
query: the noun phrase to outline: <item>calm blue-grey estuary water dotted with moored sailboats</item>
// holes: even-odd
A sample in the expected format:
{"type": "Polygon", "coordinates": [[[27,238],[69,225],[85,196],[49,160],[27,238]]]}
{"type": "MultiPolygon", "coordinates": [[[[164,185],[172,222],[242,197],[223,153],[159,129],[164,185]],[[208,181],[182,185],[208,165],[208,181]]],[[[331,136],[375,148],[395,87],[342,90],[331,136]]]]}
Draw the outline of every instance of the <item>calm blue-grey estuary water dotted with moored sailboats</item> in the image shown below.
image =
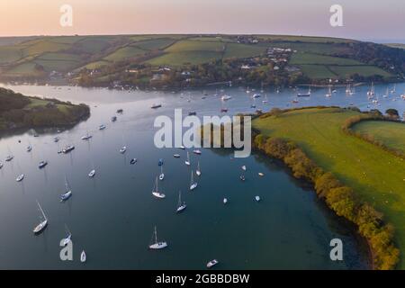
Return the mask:
{"type": "MultiPolygon", "coordinates": [[[[190,168],[184,165],[185,151],[157,149],[153,144],[153,121],[157,115],[173,116],[175,108],[184,113],[196,111],[198,115],[217,114],[220,97],[208,91],[202,99],[201,91],[155,93],[124,92],[79,87],[13,86],[15,91],[30,95],[43,95],[88,103],[91,117],[72,130],[58,134],[41,133],[34,138],[32,132],[4,136],[0,139],[0,159],[9,153],[14,160],[4,163],[0,170],[0,268],[128,268],[128,269],[201,269],[212,258],[220,260],[222,269],[348,269],[367,268],[367,256],[352,232],[320,203],[311,189],[293,179],[288,170],[266,157],[252,155],[244,159],[231,159],[233,153],[219,149],[202,149],[202,156],[192,155],[195,169],[200,161],[202,176],[199,186],[188,191],[190,168]],[[151,103],[162,103],[157,110],[151,103]],[[111,123],[114,112],[123,108],[118,121],[111,123]],[[107,129],[100,131],[102,123],[107,129]],[[90,141],[80,138],[86,131],[93,135],[90,141]],[[18,140],[22,143],[19,144],[18,140]],[[27,145],[33,147],[26,152],[27,145]],[[58,154],[63,146],[74,144],[76,149],[68,155],[58,154]],[[125,155],[119,153],[127,146],[125,155]],[[181,154],[181,158],[173,154],[181,154]],[[130,158],[138,163],[130,166],[130,158]],[[159,185],[166,199],[151,195],[156,175],[157,160],[165,159],[165,180],[159,185]],[[49,165],[40,170],[38,163],[47,159],[49,165]],[[238,176],[240,166],[246,165],[247,181],[238,176]],[[95,166],[97,174],[87,174],[95,166]],[[258,177],[263,172],[265,177],[258,177]],[[15,177],[25,174],[22,183],[15,177]],[[64,193],[65,175],[73,196],[59,202],[64,193]],[[183,191],[187,209],[175,214],[178,191],[183,191]],[[260,195],[262,202],[255,202],[260,195]],[[227,205],[222,199],[227,197],[227,205]],[[40,236],[31,232],[39,223],[38,200],[49,218],[49,227],[40,236]],[[59,260],[58,246],[66,236],[65,224],[72,232],[74,261],[59,260]],[[158,238],[169,247],[149,251],[153,227],[157,225],[158,238]],[[344,261],[329,260],[329,241],[342,238],[344,261]],[[81,264],[82,249],[87,263],[81,264]]],[[[353,96],[345,95],[345,88],[325,98],[325,89],[314,91],[298,105],[341,105],[351,103],[366,109],[367,87],[357,87],[353,96]]],[[[386,86],[377,86],[377,94],[386,86]]],[[[397,85],[398,93],[405,85],[397,85]]],[[[253,100],[243,89],[225,91],[233,98],[226,103],[229,113],[249,112],[253,100]]],[[[295,92],[285,90],[270,93],[269,102],[257,100],[257,108],[291,105],[295,92]]],[[[405,111],[405,101],[392,101],[380,97],[378,108],[397,108],[405,111]]],[[[370,106],[374,108],[374,106],[370,106]]]]}

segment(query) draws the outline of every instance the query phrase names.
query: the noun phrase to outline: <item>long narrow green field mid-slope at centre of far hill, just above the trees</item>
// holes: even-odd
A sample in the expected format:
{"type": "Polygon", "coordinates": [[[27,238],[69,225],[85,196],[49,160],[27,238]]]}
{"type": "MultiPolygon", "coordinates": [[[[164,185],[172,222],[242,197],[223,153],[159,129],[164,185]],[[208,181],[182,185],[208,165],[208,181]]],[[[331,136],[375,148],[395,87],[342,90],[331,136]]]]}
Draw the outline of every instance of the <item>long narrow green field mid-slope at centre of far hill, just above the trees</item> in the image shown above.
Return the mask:
{"type": "Polygon", "coordinates": [[[184,51],[166,53],[151,58],[147,62],[154,66],[168,65],[168,66],[182,66],[188,64],[202,64],[212,60],[220,59],[222,54],[214,51],[184,51]]]}

